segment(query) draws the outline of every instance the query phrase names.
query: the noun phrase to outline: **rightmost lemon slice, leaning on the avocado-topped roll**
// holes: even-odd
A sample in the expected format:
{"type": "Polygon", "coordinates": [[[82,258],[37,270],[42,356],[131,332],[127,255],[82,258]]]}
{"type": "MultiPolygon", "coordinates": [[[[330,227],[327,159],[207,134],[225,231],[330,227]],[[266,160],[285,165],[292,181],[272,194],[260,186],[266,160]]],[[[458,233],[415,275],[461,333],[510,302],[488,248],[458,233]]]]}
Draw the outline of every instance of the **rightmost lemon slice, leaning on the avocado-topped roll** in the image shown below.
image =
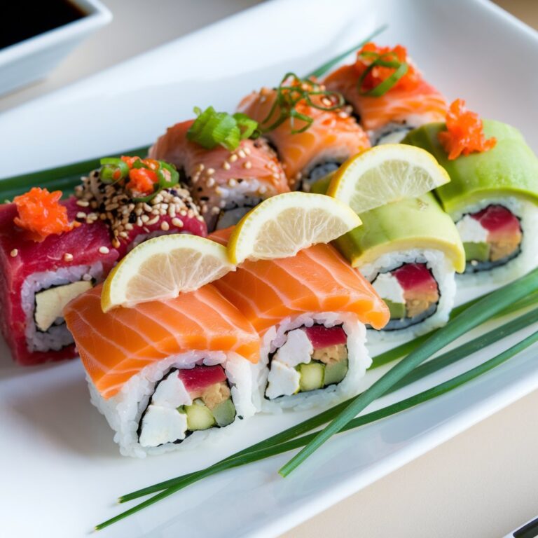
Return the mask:
{"type": "Polygon", "coordinates": [[[424,149],[384,144],[348,159],[334,174],[327,195],[357,213],[404,198],[417,198],[450,181],[424,149]]]}

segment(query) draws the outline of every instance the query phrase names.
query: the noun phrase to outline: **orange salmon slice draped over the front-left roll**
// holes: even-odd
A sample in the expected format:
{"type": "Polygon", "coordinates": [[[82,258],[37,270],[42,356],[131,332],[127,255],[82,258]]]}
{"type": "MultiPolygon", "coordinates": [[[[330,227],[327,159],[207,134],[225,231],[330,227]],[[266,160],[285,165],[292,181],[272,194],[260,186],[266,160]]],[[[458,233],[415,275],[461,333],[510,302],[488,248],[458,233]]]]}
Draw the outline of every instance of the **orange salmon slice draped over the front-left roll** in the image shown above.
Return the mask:
{"type": "Polygon", "coordinates": [[[71,301],[64,316],[83,365],[105,399],[145,366],[173,354],[224,351],[258,361],[258,334],[211,284],[169,301],[106,314],[101,288],[71,301]]]}

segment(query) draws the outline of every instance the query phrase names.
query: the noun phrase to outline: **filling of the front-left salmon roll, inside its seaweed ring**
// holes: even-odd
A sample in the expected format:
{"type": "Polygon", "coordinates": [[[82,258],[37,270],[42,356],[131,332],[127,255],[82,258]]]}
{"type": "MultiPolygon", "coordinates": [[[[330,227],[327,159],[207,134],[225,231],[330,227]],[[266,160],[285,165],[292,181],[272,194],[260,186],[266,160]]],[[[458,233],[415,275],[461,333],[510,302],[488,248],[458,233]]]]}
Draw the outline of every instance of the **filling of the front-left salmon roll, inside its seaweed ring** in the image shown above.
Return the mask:
{"type": "Polygon", "coordinates": [[[139,424],[139,443],[148,448],[181,443],[193,432],[223,428],[235,420],[224,368],[172,368],[156,386],[139,424]]]}

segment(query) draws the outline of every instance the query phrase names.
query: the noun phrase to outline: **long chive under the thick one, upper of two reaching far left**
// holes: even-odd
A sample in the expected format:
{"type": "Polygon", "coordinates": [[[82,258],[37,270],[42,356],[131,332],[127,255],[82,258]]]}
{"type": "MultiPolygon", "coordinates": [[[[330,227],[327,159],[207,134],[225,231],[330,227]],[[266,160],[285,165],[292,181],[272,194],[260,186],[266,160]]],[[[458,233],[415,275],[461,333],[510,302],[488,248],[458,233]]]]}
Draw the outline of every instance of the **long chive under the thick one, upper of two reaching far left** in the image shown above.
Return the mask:
{"type": "MultiPolygon", "coordinates": [[[[477,338],[474,338],[474,340],[470,340],[469,342],[460,345],[454,350],[450,350],[440,355],[439,357],[428,361],[422,366],[418,366],[418,368],[415,368],[415,370],[411,374],[407,375],[399,383],[396,383],[397,386],[394,385],[392,389],[389,389],[386,394],[394,392],[394,390],[396,389],[400,389],[406,385],[410,385],[415,381],[425,378],[427,375],[430,375],[431,373],[441,370],[441,368],[445,368],[446,366],[453,364],[455,361],[461,359],[462,357],[468,357],[470,354],[481,350],[483,347],[492,345],[498,340],[506,338],[506,336],[509,336],[516,331],[519,331],[520,329],[524,329],[525,327],[532,325],[534,322],[537,321],[538,308],[532,310],[532,312],[528,312],[516,319],[513,319],[511,322],[508,322],[503,326],[500,326],[497,329],[490,331],[489,333],[483,334],[482,336],[478,336],[477,338]]],[[[329,422],[331,418],[335,417],[340,411],[343,411],[343,409],[345,409],[345,407],[349,405],[351,401],[352,399],[344,401],[343,403],[339,403],[337,406],[333,406],[327,411],[319,413],[319,415],[316,415],[315,417],[312,417],[296,426],[292,426],[291,428],[284,430],[284,432],[280,432],[279,434],[275,434],[274,436],[271,436],[264,441],[260,441],[259,443],[249,446],[248,448],[244,448],[240,452],[228,456],[225,460],[234,460],[238,457],[242,457],[242,455],[255,452],[256,450],[262,450],[270,446],[275,446],[276,444],[287,442],[294,437],[305,434],[306,432],[309,432],[310,430],[315,429],[325,424],[326,422],[329,422]]],[[[191,473],[188,475],[180,476],[179,478],[171,478],[170,480],[151,485],[147,488],[143,488],[132,493],[128,493],[127,495],[123,495],[122,497],[120,497],[119,500],[120,502],[127,502],[132,499],[142,497],[144,495],[149,495],[150,493],[164,490],[172,485],[175,485],[178,481],[182,481],[185,478],[193,476],[195,474],[196,473],[191,473]]]]}

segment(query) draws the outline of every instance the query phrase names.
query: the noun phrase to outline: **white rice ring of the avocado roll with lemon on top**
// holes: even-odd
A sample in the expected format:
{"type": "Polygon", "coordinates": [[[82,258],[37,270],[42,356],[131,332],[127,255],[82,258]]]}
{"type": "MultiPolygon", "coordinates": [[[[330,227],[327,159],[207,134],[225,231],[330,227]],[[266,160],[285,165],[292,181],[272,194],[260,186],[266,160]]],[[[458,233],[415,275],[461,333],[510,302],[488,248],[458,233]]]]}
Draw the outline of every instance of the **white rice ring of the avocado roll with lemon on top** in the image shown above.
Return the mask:
{"type": "Polygon", "coordinates": [[[373,282],[380,273],[394,270],[404,263],[425,263],[432,272],[439,287],[439,302],[435,312],[422,322],[397,330],[368,330],[368,338],[373,343],[391,342],[401,338],[414,338],[421,334],[428,333],[433,329],[443,326],[448,322],[450,311],[454,305],[456,294],[455,270],[453,264],[448,260],[446,254],[436,249],[410,249],[402,251],[392,251],[383,254],[373,263],[362,265],[360,271],[362,275],[373,282]]]}

